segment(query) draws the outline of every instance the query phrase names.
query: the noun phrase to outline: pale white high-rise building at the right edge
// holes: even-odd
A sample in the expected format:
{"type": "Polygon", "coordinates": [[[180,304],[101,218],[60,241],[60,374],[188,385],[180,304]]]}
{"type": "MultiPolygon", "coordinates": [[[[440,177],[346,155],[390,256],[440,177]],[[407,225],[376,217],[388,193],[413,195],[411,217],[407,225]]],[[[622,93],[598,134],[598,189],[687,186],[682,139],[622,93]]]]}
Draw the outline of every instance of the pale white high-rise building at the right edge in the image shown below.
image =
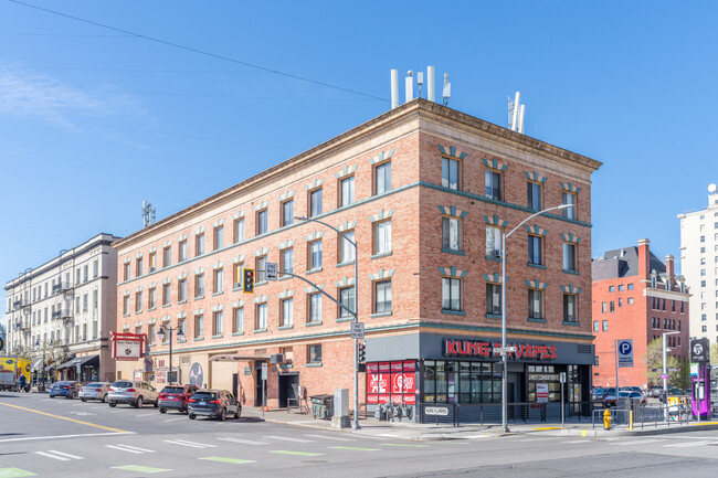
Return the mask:
{"type": "Polygon", "coordinates": [[[680,272],[690,287],[690,337],[718,343],[718,194],[708,187],[708,206],[678,214],[680,272]]]}

